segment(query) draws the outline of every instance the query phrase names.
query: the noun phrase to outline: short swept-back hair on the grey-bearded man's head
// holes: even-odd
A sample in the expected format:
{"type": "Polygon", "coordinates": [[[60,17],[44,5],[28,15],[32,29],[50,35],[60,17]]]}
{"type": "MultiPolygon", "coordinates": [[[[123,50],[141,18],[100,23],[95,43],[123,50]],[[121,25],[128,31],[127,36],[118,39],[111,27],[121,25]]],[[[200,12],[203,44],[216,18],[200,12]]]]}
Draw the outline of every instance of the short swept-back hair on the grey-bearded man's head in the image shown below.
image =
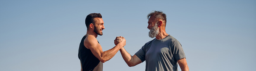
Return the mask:
{"type": "Polygon", "coordinates": [[[166,23],[166,14],[164,14],[162,11],[154,11],[148,14],[147,19],[149,19],[149,17],[151,16],[155,16],[155,19],[161,19],[164,20],[166,23]]]}

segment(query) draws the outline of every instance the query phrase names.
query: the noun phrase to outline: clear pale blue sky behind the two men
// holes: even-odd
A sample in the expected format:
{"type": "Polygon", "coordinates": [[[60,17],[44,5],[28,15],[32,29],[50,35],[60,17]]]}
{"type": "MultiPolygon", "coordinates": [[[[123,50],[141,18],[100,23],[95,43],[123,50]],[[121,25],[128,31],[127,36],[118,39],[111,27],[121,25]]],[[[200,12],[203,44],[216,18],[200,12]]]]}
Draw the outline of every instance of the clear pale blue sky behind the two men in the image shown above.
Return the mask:
{"type": "MultiPolygon", "coordinates": [[[[153,10],[167,14],[166,32],[180,41],[191,71],[255,70],[255,0],[1,0],[0,71],[79,71],[90,13],[103,16],[103,51],[124,36],[134,55],[153,39],[146,19],[153,10]]],[[[144,70],[145,62],[128,67],[120,52],[103,63],[103,71],[144,70]]]]}

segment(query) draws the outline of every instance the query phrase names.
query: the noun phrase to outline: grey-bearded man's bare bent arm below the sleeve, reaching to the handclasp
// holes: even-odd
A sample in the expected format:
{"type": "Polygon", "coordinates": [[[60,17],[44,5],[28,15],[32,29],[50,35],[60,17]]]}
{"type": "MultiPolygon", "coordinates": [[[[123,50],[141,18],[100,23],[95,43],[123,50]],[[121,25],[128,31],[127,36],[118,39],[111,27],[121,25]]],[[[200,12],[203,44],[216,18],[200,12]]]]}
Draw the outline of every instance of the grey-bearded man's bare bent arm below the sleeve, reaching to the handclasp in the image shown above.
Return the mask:
{"type": "Polygon", "coordinates": [[[131,54],[129,54],[124,47],[120,49],[121,55],[124,59],[124,61],[126,62],[126,64],[129,67],[135,66],[137,64],[142,63],[142,61],[140,60],[139,57],[137,57],[136,55],[131,56],[131,54]]]}

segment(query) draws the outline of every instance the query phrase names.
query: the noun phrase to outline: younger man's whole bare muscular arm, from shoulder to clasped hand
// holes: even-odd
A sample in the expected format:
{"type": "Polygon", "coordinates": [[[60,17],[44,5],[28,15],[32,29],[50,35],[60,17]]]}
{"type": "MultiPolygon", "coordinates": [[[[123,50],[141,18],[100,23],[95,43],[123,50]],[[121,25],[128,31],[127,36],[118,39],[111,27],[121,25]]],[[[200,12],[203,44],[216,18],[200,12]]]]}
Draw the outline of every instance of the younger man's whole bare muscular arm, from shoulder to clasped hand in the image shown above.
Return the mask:
{"type": "Polygon", "coordinates": [[[100,62],[106,62],[117,53],[126,43],[126,40],[123,40],[121,43],[114,46],[112,49],[107,51],[102,51],[102,47],[98,43],[97,39],[93,35],[88,35],[84,40],[84,46],[92,51],[92,54],[97,57],[100,62]]]}

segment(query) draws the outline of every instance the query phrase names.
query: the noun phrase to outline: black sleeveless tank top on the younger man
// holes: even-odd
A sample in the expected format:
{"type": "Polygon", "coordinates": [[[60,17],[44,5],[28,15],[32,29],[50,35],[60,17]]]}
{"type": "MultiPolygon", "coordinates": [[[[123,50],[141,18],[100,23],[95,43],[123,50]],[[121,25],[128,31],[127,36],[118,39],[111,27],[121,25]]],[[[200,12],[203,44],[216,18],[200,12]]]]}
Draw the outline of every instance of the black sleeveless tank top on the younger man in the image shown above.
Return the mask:
{"type": "MultiPolygon", "coordinates": [[[[79,50],[78,50],[78,58],[81,61],[83,71],[102,71],[103,63],[95,57],[90,49],[87,49],[84,46],[84,39],[87,35],[81,40],[79,50]]],[[[99,42],[98,42],[99,43],[99,42]]]]}

